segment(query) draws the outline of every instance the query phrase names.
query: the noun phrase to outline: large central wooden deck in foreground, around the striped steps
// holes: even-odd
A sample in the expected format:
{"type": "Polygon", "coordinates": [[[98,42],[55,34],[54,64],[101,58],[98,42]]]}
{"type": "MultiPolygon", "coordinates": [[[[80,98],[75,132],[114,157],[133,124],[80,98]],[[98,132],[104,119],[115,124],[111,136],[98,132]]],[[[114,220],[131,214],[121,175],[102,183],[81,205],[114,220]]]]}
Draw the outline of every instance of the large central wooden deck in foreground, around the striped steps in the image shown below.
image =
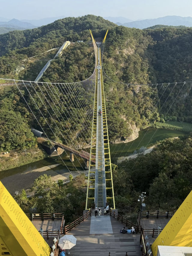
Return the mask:
{"type": "MultiPolygon", "coordinates": [[[[99,217],[97,217],[99,218],[99,217]]],[[[123,234],[123,224],[111,217],[113,234],[89,234],[91,218],[68,232],[76,237],[76,245],[70,249],[73,256],[140,256],[140,234],[123,234]]]]}

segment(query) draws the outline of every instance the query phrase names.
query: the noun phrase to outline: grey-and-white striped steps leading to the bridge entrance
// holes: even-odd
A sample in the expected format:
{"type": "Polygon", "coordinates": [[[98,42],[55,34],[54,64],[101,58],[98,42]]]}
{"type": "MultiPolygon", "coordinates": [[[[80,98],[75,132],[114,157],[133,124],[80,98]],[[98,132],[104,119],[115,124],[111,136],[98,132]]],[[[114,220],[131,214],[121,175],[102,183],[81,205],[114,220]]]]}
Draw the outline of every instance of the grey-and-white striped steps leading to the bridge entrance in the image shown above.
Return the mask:
{"type": "Polygon", "coordinates": [[[90,234],[113,234],[110,215],[91,216],[90,234]]]}

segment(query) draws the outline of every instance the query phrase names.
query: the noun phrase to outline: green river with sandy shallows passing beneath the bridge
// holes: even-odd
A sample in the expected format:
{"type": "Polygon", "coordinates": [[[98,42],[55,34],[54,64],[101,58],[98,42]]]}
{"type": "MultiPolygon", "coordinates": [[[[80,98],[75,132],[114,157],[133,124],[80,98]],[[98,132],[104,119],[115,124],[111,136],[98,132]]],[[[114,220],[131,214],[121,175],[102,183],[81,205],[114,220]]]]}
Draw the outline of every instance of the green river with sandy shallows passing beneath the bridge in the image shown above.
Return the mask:
{"type": "MultiPolygon", "coordinates": [[[[128,156],[132,153],[136,154],[139,151],[144,150],[146,147],[149,148],[155,145],[160,140],[186,134],[187,133],[182,131],[168,129],[156,130],[155,128],[147,128],[145,130],[141,130],[139,132],[139,137],[132,142],[110,145],[112,162],[115,158],[128,156]]],[[[61,157],[50,157],[28,165],[1,171],[0,180],[7,190],[13,194],[16,190],[21,191],[22,188],[30,188],[34,180],[43,174],[51,175],[53,180],[67,180],[70,172],[73,175],[79,175],[79,173],[86,174],[87,171],[83,168],[85,166],[84,161],[80,158],[77,159],[76,157],[74,157],[74,159],[75,161],[71,163],[69,157],[64,153],[61,157]]]]}

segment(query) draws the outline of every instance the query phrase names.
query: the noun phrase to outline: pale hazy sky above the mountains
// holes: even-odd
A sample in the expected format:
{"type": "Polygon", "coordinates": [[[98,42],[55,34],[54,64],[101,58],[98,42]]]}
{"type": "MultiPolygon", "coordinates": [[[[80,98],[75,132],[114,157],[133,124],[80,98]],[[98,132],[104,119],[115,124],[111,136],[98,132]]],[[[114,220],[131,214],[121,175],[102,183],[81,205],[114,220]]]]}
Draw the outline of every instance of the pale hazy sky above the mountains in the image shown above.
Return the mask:
{"type": "Polygon", "coordinates": [[[0,3],[0,16],[19,20],[86,14],[122,16],[131,20],[167,15],[192,16],[191,0],[1,0],[0,3]]]}

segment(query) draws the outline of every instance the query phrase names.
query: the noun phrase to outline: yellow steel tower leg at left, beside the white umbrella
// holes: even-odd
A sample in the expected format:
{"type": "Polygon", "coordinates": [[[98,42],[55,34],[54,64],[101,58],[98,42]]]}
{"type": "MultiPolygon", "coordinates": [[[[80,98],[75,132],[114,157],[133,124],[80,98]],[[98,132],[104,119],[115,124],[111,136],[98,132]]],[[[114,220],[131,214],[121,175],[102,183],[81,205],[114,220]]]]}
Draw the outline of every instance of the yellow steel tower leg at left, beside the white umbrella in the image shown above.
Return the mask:
{"type": "Polygon", "coordinates": [[[0,255],[49,256],[51,249],[0,181],[0,255]],[[4,244],[2,246],[2,244],[4,244]]]}

